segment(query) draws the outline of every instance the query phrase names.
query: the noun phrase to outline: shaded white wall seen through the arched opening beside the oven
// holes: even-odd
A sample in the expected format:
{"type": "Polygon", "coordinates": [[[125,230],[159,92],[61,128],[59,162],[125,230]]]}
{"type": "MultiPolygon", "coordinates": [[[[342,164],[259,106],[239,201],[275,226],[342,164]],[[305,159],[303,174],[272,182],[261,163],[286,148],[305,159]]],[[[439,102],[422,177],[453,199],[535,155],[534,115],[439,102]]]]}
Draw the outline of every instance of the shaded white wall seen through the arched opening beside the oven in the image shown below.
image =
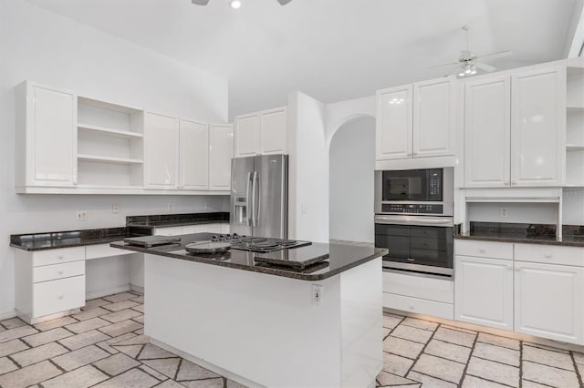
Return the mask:
{"type": "Polygon", "coordinates": [[[330,240],[375,242],[375,119],[342,125],[329,148],[330,240]]]}

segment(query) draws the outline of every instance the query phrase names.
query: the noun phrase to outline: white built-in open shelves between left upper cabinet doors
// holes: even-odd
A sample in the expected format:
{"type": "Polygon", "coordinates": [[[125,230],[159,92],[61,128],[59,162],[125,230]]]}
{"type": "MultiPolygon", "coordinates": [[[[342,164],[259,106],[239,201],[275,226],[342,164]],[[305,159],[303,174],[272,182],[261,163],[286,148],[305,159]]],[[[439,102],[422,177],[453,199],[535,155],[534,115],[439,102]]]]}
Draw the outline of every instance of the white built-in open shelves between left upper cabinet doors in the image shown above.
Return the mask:
{"type": "Polygon", "coordinates": [[[141,189],[143,111],[78,97],[78,186],[141,189]]]}

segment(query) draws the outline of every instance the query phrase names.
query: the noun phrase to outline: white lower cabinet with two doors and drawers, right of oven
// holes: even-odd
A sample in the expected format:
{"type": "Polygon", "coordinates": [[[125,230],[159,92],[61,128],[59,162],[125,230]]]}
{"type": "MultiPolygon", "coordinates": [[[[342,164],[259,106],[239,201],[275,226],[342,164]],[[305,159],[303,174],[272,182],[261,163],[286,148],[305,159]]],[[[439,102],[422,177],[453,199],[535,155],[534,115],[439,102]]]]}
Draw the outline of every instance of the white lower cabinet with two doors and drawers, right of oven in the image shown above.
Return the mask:
{"type": "Polygon", "coordinates": [[[457,240],[454,252],[456,321],[584,344],[583,248],[457,240]]]}

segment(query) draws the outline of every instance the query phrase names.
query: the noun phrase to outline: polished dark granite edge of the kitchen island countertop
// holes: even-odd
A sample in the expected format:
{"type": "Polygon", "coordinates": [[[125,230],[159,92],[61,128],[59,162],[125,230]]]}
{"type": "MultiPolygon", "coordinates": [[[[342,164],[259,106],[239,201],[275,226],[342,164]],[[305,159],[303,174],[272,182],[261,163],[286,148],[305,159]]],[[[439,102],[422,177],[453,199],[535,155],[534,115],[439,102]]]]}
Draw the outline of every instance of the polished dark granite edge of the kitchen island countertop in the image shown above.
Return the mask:
{"type": "MultiPolygon", "coordinates": [[[[177,245],[180,245],[180,244],[177,244],[177,245]]],[[[384,248],[376,248],[375,253],[373,253],[372,255],[367,255],[359,260],[355,260],[355,261],[353,261],[353,262],[351,262],[343,267],[340,267],[336,270],[328,271],[327,273],[321,273],[321,274],[310,274],[310,273],[297,273],[297,272],[293,272],[293,271],[280,270],[280,269],[276,269],[276,268],[248,266],[248,265],[237,264],[237,263],[233,263],[233,262],[229,262],[229,261],[207,259],[207,258],[203,258],[200,256],[186,257],[184,255],[176,254],[176,253],[172,253],[172,252],[151,250],[149,248],[141,248],[141,247],[131,246],[131,245],[124,243],[123,241],[113,242],[110,244],[110,247],[118,248],[121,250],[133,250],[133,251],[141,252],[141,253],[149,253],[149,254],[153,254],[153,255],[157,255],[157,256],[165,256],[165,257],[172,258],[172,259],[194,261],[194,262],[200,262],[203,264],[216,265],[219,267],[233,268],[235,270],[264,273],[266,275],[274,275],[274,276],[279,276],[279,277],[283,277],[283,278],[296,279],[299,281],[322,281],[322,280],[328,279],[332,276],[338,275],[339,273],[342,273],[344,271],[349,271],[350,269],[357,267],[360,264],[363,264],[363,263],[370,261],[370,260],[377,259],[377,258],[388,253],[388,250],[386,250],[384,248]]]]}

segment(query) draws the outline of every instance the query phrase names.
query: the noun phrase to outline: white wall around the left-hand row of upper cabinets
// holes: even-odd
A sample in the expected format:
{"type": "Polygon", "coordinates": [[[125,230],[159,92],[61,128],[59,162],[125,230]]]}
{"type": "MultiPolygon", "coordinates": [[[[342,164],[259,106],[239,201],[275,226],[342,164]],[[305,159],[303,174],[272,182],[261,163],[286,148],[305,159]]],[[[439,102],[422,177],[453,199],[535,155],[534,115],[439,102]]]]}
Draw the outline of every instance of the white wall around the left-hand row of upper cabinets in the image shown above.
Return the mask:
{"type": "MultiPolygon", "coordinates": [[[[129,15],[130,16],[130,15],[129,15]]],[[[23,80],[210,122],[227,120],[227,81],[30,5],[0,1],[0,315],[14,310],[9,235],[120,227],[126,215],[228,209],[226,197],[16,195],[15,95],[23,80]],[[112,214],[111,205],[120,205],[112,214]],[[206,204],[206,206],[205,206],[206,204]],[[89,220],[73,220],[87,210],[89,220]]]]}

